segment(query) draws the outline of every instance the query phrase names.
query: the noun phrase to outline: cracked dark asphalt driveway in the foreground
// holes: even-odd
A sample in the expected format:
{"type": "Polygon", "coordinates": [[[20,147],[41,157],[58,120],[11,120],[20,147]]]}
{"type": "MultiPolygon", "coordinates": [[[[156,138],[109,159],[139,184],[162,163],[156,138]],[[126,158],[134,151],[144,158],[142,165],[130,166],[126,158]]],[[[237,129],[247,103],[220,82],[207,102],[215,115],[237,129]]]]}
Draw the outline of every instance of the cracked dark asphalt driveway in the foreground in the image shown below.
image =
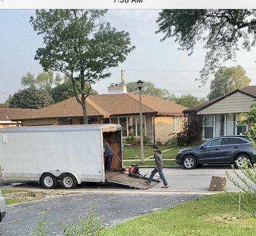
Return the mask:
{"type": "Polygon", "coordinates": [[[109,226],[198,196],[170,192],[100,191],[28,202],[7,208],[7,215],[0,223],[0,235],[30,235],[46,215],[49,235],[60,235],[59,221],[76,221],[78,217],[86,217],[92,209],[109,226]]]}

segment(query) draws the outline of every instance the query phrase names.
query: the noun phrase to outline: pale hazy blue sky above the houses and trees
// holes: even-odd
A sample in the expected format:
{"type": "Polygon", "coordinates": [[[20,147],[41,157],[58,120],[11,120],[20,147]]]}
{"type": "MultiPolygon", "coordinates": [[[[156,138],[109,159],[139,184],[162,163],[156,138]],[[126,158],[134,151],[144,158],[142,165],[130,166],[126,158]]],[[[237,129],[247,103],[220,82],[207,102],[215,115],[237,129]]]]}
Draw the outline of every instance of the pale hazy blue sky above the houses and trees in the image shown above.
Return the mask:
{"type": "MultiPolygon", "coordinates": [[[[37,75],[43,68],[34,60],[35,51],[43,47],[43,39],[36,34],[29,20],[34,10],[0,10],[0,93],[13,94],[22,89],[20,80],[27,71],[37,75]]],[[[110,83],[121,81],[121,70],[125,70],[125,80],[150,81],[156,87],[167,89],[172,94],[193,94],[206,97],[209,84],[199,87],[199,70],[203,67],[206,51],[199,42],[190,56],[186,51],[178,50],[179,45],[173,39],[161,42],[161,34],[155,34],[159,10],[109,10],[104,21],[111,23],[117,30],[130,34],[135,50],[127,60],[112,68],[111,77],[93,85],[99,94],[107,93],[110,83]]],[[[256,48],[251,51],[239,50],[236,62],[226,65],[242,65],[256,85],[256,48]]]]}

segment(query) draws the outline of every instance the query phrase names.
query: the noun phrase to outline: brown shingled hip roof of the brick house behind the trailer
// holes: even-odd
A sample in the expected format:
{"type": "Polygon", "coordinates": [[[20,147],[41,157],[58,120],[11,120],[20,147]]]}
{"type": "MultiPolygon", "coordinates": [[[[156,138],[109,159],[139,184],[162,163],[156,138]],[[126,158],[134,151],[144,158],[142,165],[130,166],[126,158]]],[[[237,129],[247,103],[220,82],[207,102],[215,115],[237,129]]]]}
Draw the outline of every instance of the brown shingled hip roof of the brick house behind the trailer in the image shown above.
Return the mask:
{"type": "MultiPolygon", "coordinates": [[[[86,99],[89,117],[121,116],[139,113],[139,94],[99,94],[90,95],[86,99]]],[[[142,112],[155,114],[182,114],[187,107],[161,99],[160,97],[142,95],[142,112]]],[[[61,101],[60,103],[33,110],[28,114],[15,117],[13,120],[50,119],[61,117],[82,117],[82,107],[76,98],[61,101]]]]}

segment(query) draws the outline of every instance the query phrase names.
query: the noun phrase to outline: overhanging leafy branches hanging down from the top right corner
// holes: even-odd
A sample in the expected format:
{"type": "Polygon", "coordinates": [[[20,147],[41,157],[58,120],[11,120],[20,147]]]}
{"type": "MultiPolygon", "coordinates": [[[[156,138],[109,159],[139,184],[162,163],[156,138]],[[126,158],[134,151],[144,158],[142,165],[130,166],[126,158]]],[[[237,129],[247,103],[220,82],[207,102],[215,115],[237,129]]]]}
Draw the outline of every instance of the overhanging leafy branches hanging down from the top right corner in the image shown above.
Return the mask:
{"type": "Polygon", "coordinates": [[[239,47],[251,50],[256,42],[255,9],[164,9],[157,19],[162,40],[174,38],[189,55],[197,41],[207,50],[200,80],[228,60],[235,60],[239,47]]]}

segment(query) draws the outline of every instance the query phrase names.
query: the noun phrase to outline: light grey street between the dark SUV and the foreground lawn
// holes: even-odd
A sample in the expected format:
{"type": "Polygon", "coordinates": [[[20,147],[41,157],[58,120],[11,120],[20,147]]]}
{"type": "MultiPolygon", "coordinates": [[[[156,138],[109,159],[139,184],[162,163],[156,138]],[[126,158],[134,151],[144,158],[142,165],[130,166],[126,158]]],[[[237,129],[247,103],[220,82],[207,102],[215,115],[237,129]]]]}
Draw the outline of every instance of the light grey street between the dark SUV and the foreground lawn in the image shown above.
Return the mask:
{"type": "MultiPolygon", "coordinates": [[[[147,176],[150,175],[153,168],[141,168],[140,172],[147,176]]],[[[239,172],[239,170],[237,170],[239,172]]],[[[173,168],[164,168],[164,175],[170,185],[170,188],[161,189],[163,183],[158,183],[153,188],[150,188],[148,191],[190,191],[190,192],[208,192],[208,188],[210,185],[210,180],[212,176],[221,176],[226,177],[226,172],[230,173],[234,178],[234,174],[232,174],[232,169],[230,166],[203,166],[202,168],[196,168],[192,170],[186,170],[182,166],[175,166],[173,168]]],[[[157,175],[155,175],[157,177],[157,175]]],[[[236,179],[236,178],[235,178],[236,179]]],[[[236,179],[238,180],[238,179],[236,179]]],[[[2,186],[7,186],[8,181],[4,181],[2,186]]],[[[41,186],[38,183],[25,183],[19,185],[19,187],[29,188],[29,189],[41,189],[41,186]]],[[[131,189],[127,186],[115,185],[112,183],[109,184],[82,184],[79,185],[79,191],[86,190],[127,190],[131,189]]],[[[239,191],[239,189],[234,186],[232,182],[227,179],[226,189],[228,191],[239,191]]],[[[132,190],[132,189],[131,189],[132,190]]]]}

